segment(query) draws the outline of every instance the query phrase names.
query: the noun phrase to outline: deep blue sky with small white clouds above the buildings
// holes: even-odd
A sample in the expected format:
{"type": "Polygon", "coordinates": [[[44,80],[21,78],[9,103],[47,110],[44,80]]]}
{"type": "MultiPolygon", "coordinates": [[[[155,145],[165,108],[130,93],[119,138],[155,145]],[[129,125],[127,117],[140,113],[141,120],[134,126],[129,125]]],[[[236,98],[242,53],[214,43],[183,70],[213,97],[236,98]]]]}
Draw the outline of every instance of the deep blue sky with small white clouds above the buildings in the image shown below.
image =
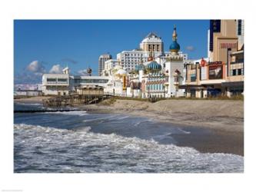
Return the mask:
{"type": "Polygon", "coordinates": [[[98,75],[98,57],[112,58],[139,47],[149,32],[171,44],[176,25],[181,51],[189,59],[207,56],[209,20],[15,20],[15,84],[42,82],[42,74],[58,73],[68,66],[71,74],[86,68],[98,75]]]}

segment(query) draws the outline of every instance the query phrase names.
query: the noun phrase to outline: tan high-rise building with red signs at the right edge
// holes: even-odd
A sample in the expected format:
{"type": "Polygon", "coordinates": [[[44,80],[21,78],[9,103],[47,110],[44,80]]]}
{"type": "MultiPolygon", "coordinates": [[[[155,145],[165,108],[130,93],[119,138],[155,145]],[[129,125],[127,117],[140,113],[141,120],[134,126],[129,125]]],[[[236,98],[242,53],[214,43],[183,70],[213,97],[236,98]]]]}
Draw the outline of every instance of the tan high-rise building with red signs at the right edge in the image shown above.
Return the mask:
{"type": "Polygon", "coordinates": [[[244,21],[211,20],[208,31],[208,61],[187,62],[187,97],[207,98],[244,92],[244,21]]]}

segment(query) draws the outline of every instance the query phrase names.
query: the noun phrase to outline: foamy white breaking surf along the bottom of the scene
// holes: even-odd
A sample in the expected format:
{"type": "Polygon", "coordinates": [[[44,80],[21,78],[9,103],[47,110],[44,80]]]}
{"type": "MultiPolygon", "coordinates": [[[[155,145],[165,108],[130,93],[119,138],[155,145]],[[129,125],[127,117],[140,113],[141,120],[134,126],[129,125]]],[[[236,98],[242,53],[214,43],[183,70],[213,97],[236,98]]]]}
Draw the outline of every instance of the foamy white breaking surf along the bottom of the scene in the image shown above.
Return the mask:
{"type": "Polygon", "coordinates": [[[154,140],[15,124],[15,172],[203,173],[243,172],[244,157],[201,154],[154,140]]]}

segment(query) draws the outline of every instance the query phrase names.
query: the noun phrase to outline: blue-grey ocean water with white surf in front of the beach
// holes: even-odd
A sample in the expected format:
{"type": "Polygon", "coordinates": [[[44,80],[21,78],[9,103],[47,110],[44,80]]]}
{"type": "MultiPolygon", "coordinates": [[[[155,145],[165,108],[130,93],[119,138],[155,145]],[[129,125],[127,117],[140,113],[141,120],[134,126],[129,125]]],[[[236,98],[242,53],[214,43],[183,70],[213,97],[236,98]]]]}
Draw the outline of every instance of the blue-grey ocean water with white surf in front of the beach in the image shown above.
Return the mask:
{"type": "MultiPolygon", "coordinates": [[[[42,104],[15,103],[15,110],[42,104]]],[[[196,128],[195,128],[196,129],[196,128]]],[[[201,130],[205,131],[205,130],[201,130]]],[[[130,114],[14,114],[15,173],[241,173],[244,157],[178,147],[185,127],[130,114]]]]}

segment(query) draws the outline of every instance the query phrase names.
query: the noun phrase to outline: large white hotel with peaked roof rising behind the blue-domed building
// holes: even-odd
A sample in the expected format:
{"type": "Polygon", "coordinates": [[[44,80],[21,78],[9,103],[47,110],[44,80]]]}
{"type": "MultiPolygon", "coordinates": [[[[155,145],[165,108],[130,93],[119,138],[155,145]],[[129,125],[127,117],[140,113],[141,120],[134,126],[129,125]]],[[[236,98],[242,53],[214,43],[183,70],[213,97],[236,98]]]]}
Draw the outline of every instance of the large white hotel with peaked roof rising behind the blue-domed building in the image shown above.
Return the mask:
{"type": "MultiPolygon", "coordinates": [[[[151,51],[154,59],[168,59],[171,55],[169,51],[164,51],[164,42],[161,40],[161,37],[151,32],[141,41],[138,49],[121,51],[117,55],[117,60],[120,61],[121,66],[125,70],[132,71],[141,61],[148,61],[151,51]]],[[[179,55],[183,57],[184,61],[188,59],[188,55],[183,54],[181,51],[179,51],[179,55]]]]}

